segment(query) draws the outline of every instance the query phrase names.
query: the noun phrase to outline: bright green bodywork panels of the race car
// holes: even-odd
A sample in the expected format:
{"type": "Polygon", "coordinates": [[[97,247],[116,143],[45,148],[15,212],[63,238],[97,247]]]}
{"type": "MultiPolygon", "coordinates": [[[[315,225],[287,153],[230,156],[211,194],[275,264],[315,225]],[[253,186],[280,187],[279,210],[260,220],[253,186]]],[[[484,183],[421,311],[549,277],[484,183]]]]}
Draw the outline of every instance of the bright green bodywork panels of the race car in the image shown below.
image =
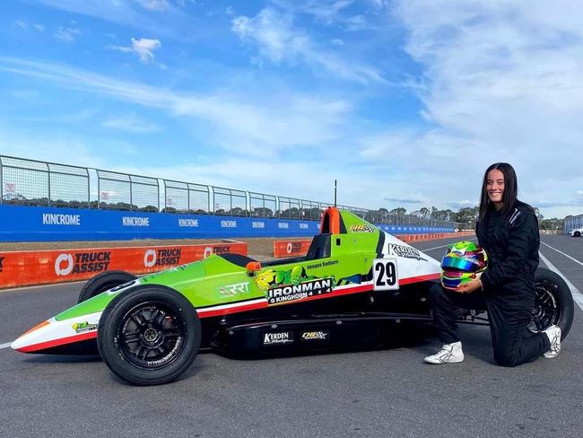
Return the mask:
{"type": "MultiPolygon", "coordinates": [[[[270,291],[277,286],[296,286],[295,290],[300,293],[298,285],[312,282],[317,286],[313,288],[316,293],[322,293],[318,280],[327,280],[325,285],[332,288],[341,279],[344,279],[344,284],[350,283],[350,278],[370,271],[372,259],[377,256],[380,231],[350,212],[342,211],[341,215],[346,233],[332,235],[328,258],[303,261],[293,259],[289,263],[282,260],[282,264],[276,265],[267,263],[250,276],[247,267],[241,267],[222,256],[211,255],[204,260],[143,276],[128,285],[117,286],[59,313],[55,319],[68,320],[103,311],[118,293],[135,285],[171,287],[182,293],[195,309],[204,309],[254,298],[269,299],[270,291]]],[[[310,292],[314,291],[306,291],[310,292]]],[[[295,300],[289,302],[292,301],[295,300]]],[[[278,303],[280,302],[269,302],[278,303]]]]}

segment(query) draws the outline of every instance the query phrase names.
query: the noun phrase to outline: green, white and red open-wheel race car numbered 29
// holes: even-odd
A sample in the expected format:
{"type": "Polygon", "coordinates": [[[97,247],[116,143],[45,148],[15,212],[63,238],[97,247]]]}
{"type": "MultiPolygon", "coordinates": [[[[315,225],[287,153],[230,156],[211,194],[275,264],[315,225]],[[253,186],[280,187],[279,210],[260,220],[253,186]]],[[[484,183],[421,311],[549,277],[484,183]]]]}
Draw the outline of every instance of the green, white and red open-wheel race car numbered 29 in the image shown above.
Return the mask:
{"type": "MultiPolygon", "coordinates": [[[[228,354],[374,346],[400,323],[431,321],[428,294],[439,261],[347,211],[329,207],[305,257],[260,263],[237,254],[137,278],[106,272],[79,302],[13,342],[24,353],[97,351],[138,385],[176,379],[199,350],[228,354]]],[[[460,322],[487,324],[482,309],[460,322]]],[[[569,287],[536,272],[531,329],[567,335],[569,287]]],[[[394,335],[393,335],[394,336],[394,335]]]]}

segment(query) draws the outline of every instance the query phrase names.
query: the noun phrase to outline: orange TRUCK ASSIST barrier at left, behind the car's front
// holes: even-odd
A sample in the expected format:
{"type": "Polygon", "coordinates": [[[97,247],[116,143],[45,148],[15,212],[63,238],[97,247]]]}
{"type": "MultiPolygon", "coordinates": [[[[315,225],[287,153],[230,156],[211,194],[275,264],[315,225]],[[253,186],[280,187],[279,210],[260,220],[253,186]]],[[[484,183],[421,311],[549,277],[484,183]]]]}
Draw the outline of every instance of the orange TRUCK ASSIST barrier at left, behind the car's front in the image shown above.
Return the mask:
{"type": "Polygon", "coordinates": [[[0,288],[85,280],[100,272],[145,274],[190,263],[211,254],[247,255],[244,242],[83,250],[0,253],[0,288]]]}

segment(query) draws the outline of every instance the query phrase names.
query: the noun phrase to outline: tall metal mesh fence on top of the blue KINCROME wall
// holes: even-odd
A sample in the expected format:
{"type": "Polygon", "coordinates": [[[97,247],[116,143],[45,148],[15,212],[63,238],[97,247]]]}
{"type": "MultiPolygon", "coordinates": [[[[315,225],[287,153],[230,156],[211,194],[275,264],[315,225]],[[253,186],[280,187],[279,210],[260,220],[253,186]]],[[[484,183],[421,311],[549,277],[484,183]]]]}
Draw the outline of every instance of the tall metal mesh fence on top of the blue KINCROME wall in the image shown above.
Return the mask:
{"type": "MultiPolygon", "coordinates": [[[[117,171],[4,155],[0,155],[0,195],[0,204],[20,206],[276,217],[306,221],[319,220],[326,206],[332,205],[300,197],[282,197],[236,188],[159,180],[117,171]],[[97,180],[97,191],[91,191],[91,175],[97,180]]],[[[386,211],[360,207],[338,207],[349,210],[370,223],[455,228],[455,224],[449,221],[415,215],[391,215],[386,211]]]]}

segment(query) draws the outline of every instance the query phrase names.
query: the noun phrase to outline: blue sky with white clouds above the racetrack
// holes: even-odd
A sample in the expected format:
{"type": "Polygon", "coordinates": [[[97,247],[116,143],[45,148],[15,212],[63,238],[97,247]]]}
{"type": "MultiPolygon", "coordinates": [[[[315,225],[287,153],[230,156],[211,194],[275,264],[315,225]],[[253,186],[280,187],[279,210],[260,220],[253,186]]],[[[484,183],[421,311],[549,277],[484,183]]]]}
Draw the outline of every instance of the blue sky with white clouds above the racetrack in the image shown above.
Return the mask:
{"type": "Polygon", "coordinates": [[[413,211],[583,212],[579,2],[7,0],[0,153],[413,211]]]}

